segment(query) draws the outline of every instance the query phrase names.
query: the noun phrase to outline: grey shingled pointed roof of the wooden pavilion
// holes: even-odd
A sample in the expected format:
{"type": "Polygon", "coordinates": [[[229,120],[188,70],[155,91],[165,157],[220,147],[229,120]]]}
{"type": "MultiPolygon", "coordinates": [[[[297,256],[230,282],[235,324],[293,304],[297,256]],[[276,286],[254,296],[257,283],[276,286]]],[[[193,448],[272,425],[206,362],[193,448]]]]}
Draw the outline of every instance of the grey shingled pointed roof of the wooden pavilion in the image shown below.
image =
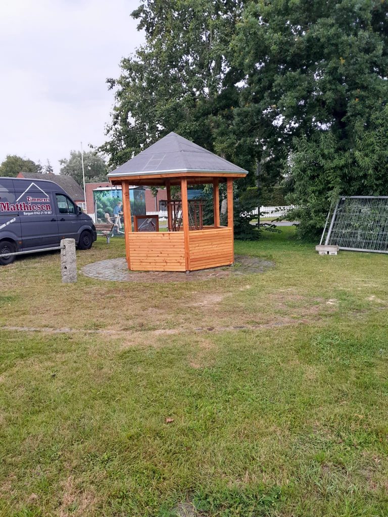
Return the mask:
{"type": "Polygon", "coordinates": [[[108,174],[108,177],[135,176],[173,172],[219,172],[247,174],[203,147],[174,132],[141,151],[108,174]]]}

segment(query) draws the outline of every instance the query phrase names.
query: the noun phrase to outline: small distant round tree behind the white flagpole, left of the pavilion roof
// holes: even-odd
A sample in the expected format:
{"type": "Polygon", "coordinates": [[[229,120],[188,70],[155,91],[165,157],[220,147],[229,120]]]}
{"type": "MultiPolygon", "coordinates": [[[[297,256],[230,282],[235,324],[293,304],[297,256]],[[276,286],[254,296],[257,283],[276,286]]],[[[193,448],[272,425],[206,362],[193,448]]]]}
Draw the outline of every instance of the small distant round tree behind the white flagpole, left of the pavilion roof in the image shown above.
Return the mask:
{"type": "MultiPolygon", "coordinates": [[[[95,152],[87,151],[83,154],[85,181],[107,181],[107,164],[95,152]]],[[[83,184],[81,151],[70,151],[70,158],[59,160],[60,174],[73,177],[79,185],[83,184]]]]}

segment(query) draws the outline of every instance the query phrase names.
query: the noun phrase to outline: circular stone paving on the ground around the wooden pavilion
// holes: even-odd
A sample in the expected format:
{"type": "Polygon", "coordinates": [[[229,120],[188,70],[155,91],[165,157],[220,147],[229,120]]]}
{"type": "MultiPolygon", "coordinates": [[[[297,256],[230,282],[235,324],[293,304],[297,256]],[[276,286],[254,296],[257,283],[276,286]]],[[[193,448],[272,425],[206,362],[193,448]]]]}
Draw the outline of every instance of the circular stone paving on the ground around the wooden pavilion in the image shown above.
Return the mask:
{"type": "Polygon", "coordinates": [[[195,280],[210,280],[212,278],[262,273],[275,265],[272,261],[258,257],[235,255],[234,258],[235,263],[233,266],[191,271],[189,275],[186,275],[185,272],[174,271],[128,271],[124,257],[93,262],[84,266],[81,271],[87,277],[117,282],[192,282],[195,280]]]}

